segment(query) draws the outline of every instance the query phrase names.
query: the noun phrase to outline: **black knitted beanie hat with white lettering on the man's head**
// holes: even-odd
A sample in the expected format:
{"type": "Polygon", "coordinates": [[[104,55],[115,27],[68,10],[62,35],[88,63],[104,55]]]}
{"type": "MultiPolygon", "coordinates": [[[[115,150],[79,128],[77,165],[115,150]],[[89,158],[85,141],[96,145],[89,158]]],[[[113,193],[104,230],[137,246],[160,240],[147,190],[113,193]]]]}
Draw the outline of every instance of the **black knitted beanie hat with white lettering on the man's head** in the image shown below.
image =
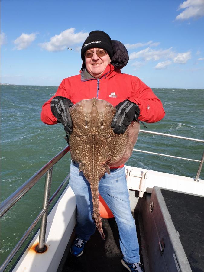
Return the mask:
{"type": "Polygon", "coordinates": [[[113,57],[111,38],[104,31],[94,30],[89,33],[89,37],[82,45],[81,57],[83,61],[85,61],[84,53],[90,48],[102,48],[108,52],[110,59],[113,57]]]}

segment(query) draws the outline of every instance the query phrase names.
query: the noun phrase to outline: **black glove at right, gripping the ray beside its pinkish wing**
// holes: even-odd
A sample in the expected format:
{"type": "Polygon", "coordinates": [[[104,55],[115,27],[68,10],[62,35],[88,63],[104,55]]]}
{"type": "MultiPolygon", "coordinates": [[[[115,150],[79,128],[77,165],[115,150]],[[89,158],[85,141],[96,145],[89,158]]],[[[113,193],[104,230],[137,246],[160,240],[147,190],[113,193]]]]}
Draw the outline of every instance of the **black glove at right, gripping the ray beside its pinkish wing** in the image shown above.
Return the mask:
{"type": "Polygon", "coordinates": [[[123,134],[133,120],[137,120],[140,115],[140,108],[137,104],[124,100],[116,107],[116,113],[113,117],[111,127],[116,134],[123,134]]]}

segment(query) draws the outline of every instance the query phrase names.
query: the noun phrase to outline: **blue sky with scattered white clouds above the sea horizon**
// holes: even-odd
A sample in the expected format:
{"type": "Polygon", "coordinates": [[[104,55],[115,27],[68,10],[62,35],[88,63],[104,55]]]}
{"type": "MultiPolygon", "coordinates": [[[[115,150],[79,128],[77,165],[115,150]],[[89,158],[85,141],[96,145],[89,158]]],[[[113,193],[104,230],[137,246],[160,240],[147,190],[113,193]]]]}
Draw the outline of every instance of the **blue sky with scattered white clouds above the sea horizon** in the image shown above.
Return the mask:
{"type": "Polygon", "coordinates": [[[93,30],[124,43],[121,72],[151,88],[204,88],[204,0],[1,0],[1,83],[58,86],[93,30]]]}

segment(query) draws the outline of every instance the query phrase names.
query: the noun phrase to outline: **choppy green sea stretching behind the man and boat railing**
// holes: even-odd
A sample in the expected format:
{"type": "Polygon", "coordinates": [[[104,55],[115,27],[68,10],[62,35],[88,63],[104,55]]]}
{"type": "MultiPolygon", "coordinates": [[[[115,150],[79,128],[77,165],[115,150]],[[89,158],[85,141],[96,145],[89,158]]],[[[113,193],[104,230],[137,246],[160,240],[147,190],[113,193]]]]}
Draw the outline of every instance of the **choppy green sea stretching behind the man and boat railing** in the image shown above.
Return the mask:
{"type": "MultiPolygon", "coordinates": [[[[204,89],[152,90],[166,115],[141,129],[204,138],[204,89]]],[[[1,202],[67,145],[63,125],[45,125],[40,120],[42,105],[56,91],[57,86],[1,85],[1,202]]],[[[136,149],[195,160],[201,160],[203,147],[195,141],[142,132],[135,145],[136,149]]],[[[199,167],[198,162],[134,151],[126,164],[192,178],[199,167]]],[[[54,167],[51,195],[69,173],[69,166],[68,153],[54,167]]],[[[204,179],[204,170],[200,178],[204,179]]],[[[42,209],[43,191],[44,177],[1,218],[1,264],[42,209]]]]}

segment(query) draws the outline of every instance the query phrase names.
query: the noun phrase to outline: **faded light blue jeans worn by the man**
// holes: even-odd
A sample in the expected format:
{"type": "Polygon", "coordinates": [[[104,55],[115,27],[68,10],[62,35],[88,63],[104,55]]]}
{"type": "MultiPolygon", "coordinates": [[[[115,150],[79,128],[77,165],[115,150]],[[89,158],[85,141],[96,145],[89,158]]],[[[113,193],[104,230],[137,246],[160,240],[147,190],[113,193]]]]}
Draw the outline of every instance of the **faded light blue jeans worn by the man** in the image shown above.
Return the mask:
{"type": "MultiPolygon", "coordinates": [[[[131,214],[125,168],[111,169],[99,181],[99,193],[112,211],[118,225],[120,248],[125,261],[140,261],[136,227],[131,214]]],[[[82,240],[89,240],[96,225],[92,219],[92,196],[89,182],[79,173],[79,164],[70,164],[70,186],[76,196],[76,234],[82,240]]]]}

